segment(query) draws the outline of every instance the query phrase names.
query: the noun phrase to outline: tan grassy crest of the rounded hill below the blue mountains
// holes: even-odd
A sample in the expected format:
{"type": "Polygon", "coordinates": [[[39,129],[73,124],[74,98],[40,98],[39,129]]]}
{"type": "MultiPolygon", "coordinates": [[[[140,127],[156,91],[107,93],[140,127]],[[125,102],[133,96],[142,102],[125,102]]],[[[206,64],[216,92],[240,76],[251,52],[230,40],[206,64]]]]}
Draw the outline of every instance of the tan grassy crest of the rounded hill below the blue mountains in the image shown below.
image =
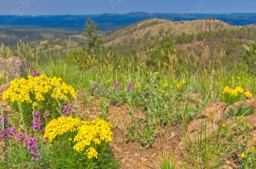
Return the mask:
{"type": "Polygon", "coordinates": [[[238,26],[231,26],[225,22],[215,19],[177,21],[172,22],[164,19],[147,19],[134,23],[104,37],[106,45],[127,44],[131,39],[152,39],[151,37],[169,34],[197,34],[203,31],[216,31],[219,29],[238,29],[238,26]]]}

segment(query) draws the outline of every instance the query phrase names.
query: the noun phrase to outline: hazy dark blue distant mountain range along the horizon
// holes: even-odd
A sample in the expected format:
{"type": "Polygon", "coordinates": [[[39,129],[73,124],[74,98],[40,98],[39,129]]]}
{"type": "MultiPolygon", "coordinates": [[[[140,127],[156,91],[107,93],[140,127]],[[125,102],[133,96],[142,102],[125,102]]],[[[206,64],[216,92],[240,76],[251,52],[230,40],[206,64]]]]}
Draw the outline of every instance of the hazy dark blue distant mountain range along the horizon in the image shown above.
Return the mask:
{"type": "Polygon", "coordinates": [[[231,14],[175,14],[175,13],[145,13],[132,12],[127,14],[101,14],[101,15],[40,15],[40,16],[0,16],[0,25],[28,25],[39,27],[69,27],[81,29],[87,18],[99,24],[100,31],[114,30],[147,18],[166,19],[170,21],[186,21],[215,18],[230,25],[256,24],[256,13],[231,14]]]}

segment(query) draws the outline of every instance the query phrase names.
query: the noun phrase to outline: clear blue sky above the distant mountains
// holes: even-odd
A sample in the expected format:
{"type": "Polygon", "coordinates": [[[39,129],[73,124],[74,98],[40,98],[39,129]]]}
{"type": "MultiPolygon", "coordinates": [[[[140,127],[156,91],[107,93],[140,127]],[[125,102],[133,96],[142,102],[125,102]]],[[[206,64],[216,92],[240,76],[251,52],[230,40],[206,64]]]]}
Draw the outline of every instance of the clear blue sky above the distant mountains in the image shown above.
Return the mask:
{"type": "Polygon", "coordinates": [[[0,15],[256,13],[256,0],[0,0],[0,15]]]}

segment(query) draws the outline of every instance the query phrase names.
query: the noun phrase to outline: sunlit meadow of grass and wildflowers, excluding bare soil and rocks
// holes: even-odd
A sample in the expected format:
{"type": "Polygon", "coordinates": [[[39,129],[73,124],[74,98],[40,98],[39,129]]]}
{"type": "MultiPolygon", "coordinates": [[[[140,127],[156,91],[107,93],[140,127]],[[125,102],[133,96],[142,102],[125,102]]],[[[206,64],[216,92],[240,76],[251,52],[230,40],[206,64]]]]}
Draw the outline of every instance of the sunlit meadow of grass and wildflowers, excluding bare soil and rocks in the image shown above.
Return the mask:
{"type": "MultiPolygon", "coordinates": [[[[86,56],[88,69],[80,69],[67,62],[66,55],[50,51],[38,54],[37,51],[33,58],[24,56],[36,71],[11,80],[10,88],[3,93],[3,101],[14,113],[9,115],[5,132],[4,111],[1,110],[1,140],[8,138],[9,142],[8,163],[1,161],[1,168],[119,168],[120,160],[114,157],[109,145],[113,141],[110,106],[124,105],[129,109],[127,116],[132,123],[122,126],[122,132],[126,133],[124,139],[150,148],[159,128],[179,125],[184,129],[210,102],[232,105],[256,94],[255,75],[236,67],[228,69],[219,65],[203,69],[196,66],[188,70],[185,61],[179,65],[159,61],[157,66],[150,67],[144,64],[142,57],[136,62],[120,57],[120,62],[115,62],[110,53],[101,53],[97,58],[86,56]],[[45,63],[38,62],[40,60],[45,63]],[[98,70],[90,71],[92,67],[98,70]],[[82,99],[78,103],[79,93],[82,99]],[[191,93],[202,94],[196,105],[189,102],[191,93]],[[101,113],[97,112],[93,120],[90,120],[90,112],[84,118],[73,111],[79,105],[97,103],[101,113]],[[135,109],[143,113],[143,121],[135,118],[135,109]]],[[[254,140],[249,134],[252,128],[244,124],[243,119],[249,112],[254,114],[255,109],[246,108],[239,113],[230,111],[229,115],[236,116],[236,121],[230,127],[221,124],[207,139],[194,143],[185,137],[187,167],[221,168],[224,158],[236,150],[241,167],[253,168],[255,143],[247,144],[248,140],[254,140]],[[200,154],[207,154],[207,159],[199,158],[200,154]]],[[[186,131],[183,132],[185,135],[186,131]]],[[[4,153],[2,150],[3,156],[4,153]]],[[[163,151],[157,167],[177,166],[163,151]]]]}

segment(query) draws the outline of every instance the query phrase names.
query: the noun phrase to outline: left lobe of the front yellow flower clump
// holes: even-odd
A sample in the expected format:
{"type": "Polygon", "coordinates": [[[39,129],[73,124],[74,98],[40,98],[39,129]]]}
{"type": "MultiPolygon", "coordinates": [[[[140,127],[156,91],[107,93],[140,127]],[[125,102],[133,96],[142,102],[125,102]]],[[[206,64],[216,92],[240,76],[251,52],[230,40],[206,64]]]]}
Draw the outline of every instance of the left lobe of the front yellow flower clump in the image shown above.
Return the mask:
{"type": "Polygon", "coordinates": [[[81,126],[81,121],[72,117],[59,117],[50,121],[45,128],[45,138],[49,138],[50,142],[57,135],[64,134],[68,131],[76,131],[81,126]]]}

